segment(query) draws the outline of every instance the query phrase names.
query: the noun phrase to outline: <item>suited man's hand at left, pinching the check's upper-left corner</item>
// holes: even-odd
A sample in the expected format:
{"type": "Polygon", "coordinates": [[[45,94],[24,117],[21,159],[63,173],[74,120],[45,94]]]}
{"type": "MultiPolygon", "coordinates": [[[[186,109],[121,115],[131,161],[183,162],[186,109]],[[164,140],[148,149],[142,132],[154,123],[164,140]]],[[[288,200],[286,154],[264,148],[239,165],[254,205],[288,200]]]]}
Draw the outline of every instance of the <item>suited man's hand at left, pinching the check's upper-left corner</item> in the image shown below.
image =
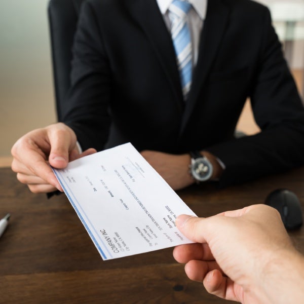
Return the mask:
{"type": "Polygon", "coordinates": [[[12,147],[12,170],[17,179],[27,184],[33,193],[62,191],[49,164],[54,168],[65,168],[69,161],[96,152],[91,148],[79,153],[77,138],[68,126],[57,123],[33,130],[22,136],[12,147]]]}

